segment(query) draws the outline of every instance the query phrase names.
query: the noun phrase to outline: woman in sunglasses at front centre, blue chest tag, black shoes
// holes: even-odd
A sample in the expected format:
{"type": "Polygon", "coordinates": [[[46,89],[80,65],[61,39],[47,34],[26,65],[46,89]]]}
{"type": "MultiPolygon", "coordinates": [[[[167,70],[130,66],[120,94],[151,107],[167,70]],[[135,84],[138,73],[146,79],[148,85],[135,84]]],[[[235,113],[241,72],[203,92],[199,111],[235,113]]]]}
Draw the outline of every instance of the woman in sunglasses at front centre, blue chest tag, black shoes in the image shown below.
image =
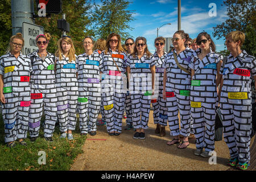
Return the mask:
{"type": "Polygon", "coordinates": [[[145,139],[144,130],[148,128],[151,96],[154,94],[156,64],[151,56],[147,48],[146,38],[138,37],[135,40],[134,51],[126,62],[130,83],[133,126],[136,129],[134,139],[145,139]]]}

